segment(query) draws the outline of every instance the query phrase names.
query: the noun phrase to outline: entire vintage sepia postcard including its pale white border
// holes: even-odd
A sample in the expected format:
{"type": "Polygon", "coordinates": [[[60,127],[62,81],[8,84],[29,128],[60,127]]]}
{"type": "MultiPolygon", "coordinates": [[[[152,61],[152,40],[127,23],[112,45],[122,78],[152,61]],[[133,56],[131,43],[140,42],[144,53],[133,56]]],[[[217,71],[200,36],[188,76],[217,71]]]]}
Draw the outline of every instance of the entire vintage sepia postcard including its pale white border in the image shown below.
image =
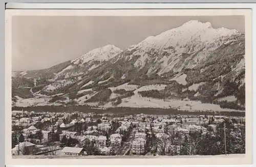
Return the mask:
{"type": "Polygon", "coordinates": [[[251,35],[245,9],[6,10],[6,163],[252,163],[251,35]]]}

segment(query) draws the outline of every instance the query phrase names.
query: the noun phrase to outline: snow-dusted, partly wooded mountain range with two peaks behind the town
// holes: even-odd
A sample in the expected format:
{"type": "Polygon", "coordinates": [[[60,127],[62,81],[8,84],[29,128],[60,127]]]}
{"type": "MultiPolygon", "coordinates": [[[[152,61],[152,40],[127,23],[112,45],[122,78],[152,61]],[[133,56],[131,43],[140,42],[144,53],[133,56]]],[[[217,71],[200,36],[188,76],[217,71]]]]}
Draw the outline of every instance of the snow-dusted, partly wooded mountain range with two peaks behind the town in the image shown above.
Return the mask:
{"type": "Polygon", "coordinates": [[[46,76],[32,77],[42,82],[32,86],[34,98],[16,105],[55,98],[40,105],[244,109],[244,56],[243,34],[191,20],[125,50],[106,45],[41,70],[46,76]]]}

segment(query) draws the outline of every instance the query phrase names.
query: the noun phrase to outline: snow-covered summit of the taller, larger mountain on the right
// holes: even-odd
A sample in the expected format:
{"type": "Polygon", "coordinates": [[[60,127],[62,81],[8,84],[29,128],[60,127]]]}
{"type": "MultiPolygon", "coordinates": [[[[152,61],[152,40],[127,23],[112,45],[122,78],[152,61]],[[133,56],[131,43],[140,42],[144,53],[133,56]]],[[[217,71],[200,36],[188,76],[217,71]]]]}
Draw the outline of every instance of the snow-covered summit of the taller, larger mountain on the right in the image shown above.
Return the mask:
{"type": "Polygon", "coordinates": [[[214,29],[210,22],[190,20],[179,27],[163,32],[157,36],[147,37],[137,46],[141,49],[155,47],[157,49],[189,45],[191,42],[208,45],[216,39],[225,36],[240,34],[237,30],[226,28],[214,29]]]}

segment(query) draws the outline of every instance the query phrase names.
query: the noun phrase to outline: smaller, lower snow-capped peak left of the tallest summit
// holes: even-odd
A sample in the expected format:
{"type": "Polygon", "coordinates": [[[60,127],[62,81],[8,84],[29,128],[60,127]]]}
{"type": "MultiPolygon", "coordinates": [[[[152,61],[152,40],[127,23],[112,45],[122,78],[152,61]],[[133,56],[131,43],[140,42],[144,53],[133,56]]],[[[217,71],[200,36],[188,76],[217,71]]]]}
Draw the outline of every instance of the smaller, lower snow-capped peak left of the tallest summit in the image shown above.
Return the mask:
{"type": "Polygon", "coordinates": [[[108,44],[83,54],[81,57],[73,60],[72,63],[83,65],[84,63],[88,63],[90,61],[108,61],[114,58],[120,52],[122,52],[121,49],[115,45],[108,44]]]}

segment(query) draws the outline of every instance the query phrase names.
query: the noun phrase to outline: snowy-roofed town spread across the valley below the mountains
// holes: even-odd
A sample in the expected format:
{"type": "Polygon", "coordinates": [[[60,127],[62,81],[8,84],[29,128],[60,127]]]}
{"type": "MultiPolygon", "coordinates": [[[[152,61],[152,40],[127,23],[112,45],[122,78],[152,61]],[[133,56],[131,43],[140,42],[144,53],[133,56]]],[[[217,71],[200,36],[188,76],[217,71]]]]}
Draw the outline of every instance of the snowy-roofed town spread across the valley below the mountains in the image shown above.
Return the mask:
{"type": "Polygon", "coordinates": [[[245,154],[245,117],[12,111],[12,155],[245,154]]]}

